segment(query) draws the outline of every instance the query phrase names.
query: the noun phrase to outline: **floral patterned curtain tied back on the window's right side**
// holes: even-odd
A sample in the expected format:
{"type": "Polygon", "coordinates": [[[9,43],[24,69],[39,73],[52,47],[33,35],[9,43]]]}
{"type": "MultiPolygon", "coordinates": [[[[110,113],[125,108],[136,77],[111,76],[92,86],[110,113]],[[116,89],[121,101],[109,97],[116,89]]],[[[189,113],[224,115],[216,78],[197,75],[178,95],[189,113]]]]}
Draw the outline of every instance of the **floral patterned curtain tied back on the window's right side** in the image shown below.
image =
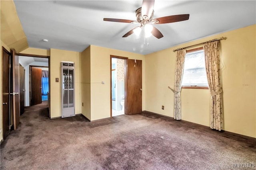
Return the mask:
{"type": "Polygon", "coordinates": [[[221,131],[222,129],[222,103],[220,85],[220,49],[219,41],[204,44],[205,66],[211,93],[210,128],[221,131]]]}

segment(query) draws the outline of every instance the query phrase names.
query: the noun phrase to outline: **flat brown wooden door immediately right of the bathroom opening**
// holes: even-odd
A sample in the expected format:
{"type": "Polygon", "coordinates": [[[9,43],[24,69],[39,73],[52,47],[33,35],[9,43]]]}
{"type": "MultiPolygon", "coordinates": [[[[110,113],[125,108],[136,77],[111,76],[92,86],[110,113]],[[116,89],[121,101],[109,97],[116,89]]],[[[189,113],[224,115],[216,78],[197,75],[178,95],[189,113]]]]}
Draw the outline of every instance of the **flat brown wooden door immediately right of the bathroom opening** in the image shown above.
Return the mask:
{"type": "Polygon", "coordinates": [[[142,61],[127,60],[126,114],[142,112],[142,61]]]}

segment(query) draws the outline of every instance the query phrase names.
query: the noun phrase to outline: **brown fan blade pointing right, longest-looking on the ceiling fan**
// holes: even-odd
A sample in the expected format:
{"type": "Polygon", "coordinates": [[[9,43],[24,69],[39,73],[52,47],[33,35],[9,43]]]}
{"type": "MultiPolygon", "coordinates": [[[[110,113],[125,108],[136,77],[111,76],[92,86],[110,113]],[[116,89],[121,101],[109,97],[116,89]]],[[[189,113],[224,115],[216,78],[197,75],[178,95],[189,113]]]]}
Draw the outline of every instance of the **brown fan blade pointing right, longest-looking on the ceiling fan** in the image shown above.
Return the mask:
{"type": "Polygon", "coordinates": [[[160,17],[153,19],[152,22],[154,21],[159,21],[154,22],[154,24],[161,24],[161,23],[172,23],[172,22],[178,22],[178,21],[185,21],[189,19],[189,14],[182,14],[182,15],[175,15],[175,16],[165,16],[165,17],[160,17]]]}

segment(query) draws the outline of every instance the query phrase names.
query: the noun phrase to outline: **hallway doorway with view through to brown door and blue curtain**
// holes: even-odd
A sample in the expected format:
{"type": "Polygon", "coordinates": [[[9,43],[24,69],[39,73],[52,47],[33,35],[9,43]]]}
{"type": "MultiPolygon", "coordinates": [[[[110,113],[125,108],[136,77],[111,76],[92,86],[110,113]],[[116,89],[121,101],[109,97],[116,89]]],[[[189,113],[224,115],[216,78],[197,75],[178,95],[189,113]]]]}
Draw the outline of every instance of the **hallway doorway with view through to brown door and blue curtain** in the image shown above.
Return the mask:
{"type": "MultiPolygon", "coordinates": [[[[50,112],[50,56],[19,53],[25,70],[24,106],[46,103],[50,112]]],[[[50,113],[49,113],[50,117],[50,113]]]]}

